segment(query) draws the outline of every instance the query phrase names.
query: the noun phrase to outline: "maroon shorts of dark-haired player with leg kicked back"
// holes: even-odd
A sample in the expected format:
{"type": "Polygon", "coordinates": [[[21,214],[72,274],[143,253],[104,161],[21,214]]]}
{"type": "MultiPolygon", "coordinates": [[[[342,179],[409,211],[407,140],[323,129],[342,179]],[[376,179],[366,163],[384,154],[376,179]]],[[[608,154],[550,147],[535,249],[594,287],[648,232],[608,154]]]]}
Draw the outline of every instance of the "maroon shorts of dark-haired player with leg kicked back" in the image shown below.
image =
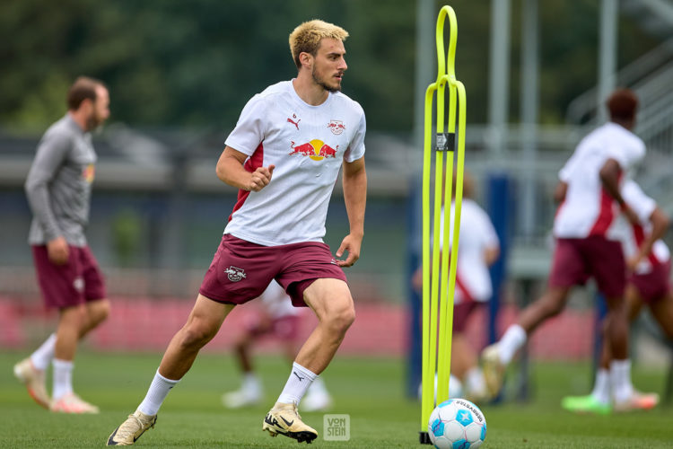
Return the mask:
{"type": "Polygon", "coordinates": [[[590,277],[608,298],[624,295],[626,268],[622,244],[599,235],[557,239],[549,286],[582,286],[590,277]]]}

